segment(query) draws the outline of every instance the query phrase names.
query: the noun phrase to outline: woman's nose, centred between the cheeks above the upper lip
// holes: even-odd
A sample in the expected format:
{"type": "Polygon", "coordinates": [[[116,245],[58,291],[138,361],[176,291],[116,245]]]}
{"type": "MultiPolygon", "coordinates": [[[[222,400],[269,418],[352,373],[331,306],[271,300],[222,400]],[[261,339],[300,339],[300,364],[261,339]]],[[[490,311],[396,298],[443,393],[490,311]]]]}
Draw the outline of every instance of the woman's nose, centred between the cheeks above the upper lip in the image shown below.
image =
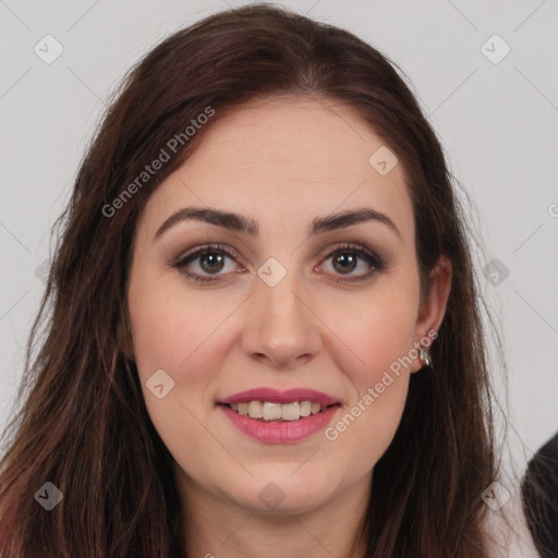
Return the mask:
{"type": "Polygon", "coordinates": [[[312,361],[322,344],[320,322],[291,274],[275,287],[255,279],[245,307],[244,354],[275,368],[293,369],[312,361]]]}

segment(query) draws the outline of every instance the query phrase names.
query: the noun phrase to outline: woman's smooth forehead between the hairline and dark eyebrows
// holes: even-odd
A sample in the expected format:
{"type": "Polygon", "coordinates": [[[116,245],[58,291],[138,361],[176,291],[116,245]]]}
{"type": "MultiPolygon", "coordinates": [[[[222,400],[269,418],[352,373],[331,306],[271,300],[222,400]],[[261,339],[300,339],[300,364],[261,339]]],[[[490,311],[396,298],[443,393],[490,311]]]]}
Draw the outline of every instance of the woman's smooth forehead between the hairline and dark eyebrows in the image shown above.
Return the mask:
{"type": "Polygon", "coordinates": [[[209,206],[272,230],[294,218],[306,226],[318,215],[371,207],[413,238],[404,169],[398,162],[389,170],[395,154],[354,108],[332,99],[279,97],[216,117],[196,150],[151,195],[147,219],[209,206]],[[378,172],[378,158],[389,172],[378,172]]]}

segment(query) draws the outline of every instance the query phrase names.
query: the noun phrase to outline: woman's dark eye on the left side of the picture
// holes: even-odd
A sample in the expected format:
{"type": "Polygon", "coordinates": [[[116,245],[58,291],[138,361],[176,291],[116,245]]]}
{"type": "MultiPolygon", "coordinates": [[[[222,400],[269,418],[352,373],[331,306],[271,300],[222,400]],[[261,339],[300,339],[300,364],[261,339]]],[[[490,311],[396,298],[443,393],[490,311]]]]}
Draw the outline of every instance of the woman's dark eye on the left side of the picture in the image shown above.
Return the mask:
{"type": "Polygon", "coordinates": [[[239,271],[234,258],[235,255],[221,244],[206,245],[182,254],[172,267],[189,279],[215,282],[221,275],[239,271]]]}

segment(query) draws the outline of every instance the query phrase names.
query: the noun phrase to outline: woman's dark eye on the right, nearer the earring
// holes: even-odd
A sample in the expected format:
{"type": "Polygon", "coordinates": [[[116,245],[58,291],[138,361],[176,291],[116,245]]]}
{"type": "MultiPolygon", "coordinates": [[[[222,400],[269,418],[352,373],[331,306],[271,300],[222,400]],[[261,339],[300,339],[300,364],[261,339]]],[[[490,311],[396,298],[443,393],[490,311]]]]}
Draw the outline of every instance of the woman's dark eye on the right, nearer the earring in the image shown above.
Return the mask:
{"type": "Polygon", "coordinates": [[[385,269],[385,262],[380,257],[353,244],[339,246],[327,255],[325,262],[326,264],[318,266],[318,269],[338,276],[333,279],[338,282],[363,280],[375,271],[385,269]]]}

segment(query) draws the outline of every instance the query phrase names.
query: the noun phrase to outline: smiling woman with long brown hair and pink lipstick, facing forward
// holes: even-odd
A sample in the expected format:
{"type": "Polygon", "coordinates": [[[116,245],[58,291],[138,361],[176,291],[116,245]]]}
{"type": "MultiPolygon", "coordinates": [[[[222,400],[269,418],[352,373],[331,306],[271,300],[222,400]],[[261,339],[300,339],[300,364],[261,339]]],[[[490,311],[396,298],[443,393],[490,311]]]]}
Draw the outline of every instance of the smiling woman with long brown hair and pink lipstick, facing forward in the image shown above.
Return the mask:
{"type": "Polygon", "coordinates": [[[252,5],[169,37],[61,218],[0,554],[495,555],[462,219],[413,95],[353,35],[252,5]]]}

